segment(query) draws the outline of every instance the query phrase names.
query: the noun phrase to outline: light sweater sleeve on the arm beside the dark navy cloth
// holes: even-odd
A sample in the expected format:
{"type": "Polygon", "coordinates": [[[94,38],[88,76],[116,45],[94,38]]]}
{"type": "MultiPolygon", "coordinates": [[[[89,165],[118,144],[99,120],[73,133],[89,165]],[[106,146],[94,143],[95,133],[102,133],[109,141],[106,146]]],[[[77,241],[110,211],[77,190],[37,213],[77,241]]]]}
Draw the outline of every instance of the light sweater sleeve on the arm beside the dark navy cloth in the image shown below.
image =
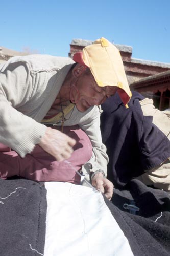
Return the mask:
{"type": "Polygon", "coordinates": [[[107,176],[107,163],[108,155],[106,154],[106,146],[102,143],[102,136],[100,130],[100,112],[101,108],[95,106],[91,111],[91,118],[89,117],[80,127],[89,136],[92,148],[93,157],[89,163],[91,163],[91,172],[96,170],[103,170],[107,176]]]}

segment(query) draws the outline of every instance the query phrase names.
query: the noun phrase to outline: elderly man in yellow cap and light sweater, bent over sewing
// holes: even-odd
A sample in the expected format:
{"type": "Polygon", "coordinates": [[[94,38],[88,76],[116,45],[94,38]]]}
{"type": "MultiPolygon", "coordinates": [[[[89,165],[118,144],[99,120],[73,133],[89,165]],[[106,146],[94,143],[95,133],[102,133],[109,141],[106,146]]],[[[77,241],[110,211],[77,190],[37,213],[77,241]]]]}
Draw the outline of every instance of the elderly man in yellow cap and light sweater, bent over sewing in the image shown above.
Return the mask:
{"type": "Polygon", "coordinates": [[[111,198],[100,104],[116,91],[126,105],[131,92],[123,62],[105,38],[76,53],[74,60],[11,58],[0,69],[0,142],[12,148],[2,149],[1,177],[79,183],[79,171],[111,198]]]}

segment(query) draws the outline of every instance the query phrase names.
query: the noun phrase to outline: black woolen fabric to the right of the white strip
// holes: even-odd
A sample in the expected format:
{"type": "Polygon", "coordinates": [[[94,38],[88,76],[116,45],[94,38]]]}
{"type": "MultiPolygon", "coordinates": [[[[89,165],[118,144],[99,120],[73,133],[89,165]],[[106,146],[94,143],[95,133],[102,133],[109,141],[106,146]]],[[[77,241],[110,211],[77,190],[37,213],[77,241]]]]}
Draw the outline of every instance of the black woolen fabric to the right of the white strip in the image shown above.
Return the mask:
{"type": "Polygon", "coordinates": [[[105,199],[112,215],[136,256],[170,255],[170,196],[133,179],[126,189],[114,189],[112,201],[105,199]],[[131,214],[124,204],[139,208],[131,214]]]}

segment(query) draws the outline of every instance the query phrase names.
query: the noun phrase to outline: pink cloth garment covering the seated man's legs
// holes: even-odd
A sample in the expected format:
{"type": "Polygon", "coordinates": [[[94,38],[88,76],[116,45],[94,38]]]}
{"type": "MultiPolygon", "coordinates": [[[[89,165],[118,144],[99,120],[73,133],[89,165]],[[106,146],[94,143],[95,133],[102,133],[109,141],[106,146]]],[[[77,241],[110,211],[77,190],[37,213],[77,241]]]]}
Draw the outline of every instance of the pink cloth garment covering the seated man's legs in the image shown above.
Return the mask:
{"type": "Polygon", "coordinates": [[[25,158],[21,158],[15,151],[3,151],[2,147],[0,152],[1,178],[19,175],[35,181],[64,181],[80,184],[80,176],[75,170],[79,171],[82,165],[91,158],[91,142],[78,125],[64,127],[63,132],[77,141],[74,152],[67,161],[58,162],[38,145],[25,158]]]}

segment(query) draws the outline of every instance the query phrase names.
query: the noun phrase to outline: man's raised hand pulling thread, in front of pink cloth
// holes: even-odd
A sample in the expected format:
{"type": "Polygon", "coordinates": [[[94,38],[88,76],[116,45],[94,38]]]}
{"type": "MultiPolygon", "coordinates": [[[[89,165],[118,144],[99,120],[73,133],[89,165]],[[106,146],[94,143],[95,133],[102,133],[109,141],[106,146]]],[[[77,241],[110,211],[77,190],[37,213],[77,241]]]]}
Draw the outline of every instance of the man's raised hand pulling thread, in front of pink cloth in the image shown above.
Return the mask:
{"type": "Polygon", "coordinates": [[[73,152],[72,147],[75,144],[76,140],[56,129],[47,127],[38,145],[60,162],[70,158],[73,152]]]}

